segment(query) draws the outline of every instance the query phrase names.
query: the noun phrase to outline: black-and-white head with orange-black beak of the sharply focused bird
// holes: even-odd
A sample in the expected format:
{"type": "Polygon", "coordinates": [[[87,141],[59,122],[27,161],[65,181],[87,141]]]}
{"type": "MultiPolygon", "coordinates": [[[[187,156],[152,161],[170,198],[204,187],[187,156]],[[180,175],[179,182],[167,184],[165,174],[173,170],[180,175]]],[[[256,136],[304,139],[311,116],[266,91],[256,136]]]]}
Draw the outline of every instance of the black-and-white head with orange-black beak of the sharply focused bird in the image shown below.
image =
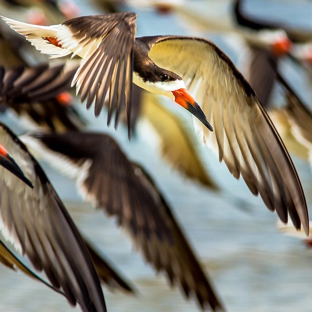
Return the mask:
{"type": "Polygon", "coordinates": [[[134,77],[134,82],[149,92],[172,98],[177,104],[198,118],[210,131],[213,131],[213,127],[208,122],[195,98],[186,89],[185,83],[180,76],[169,70],[154,67],[153,71],[147,73],[146,77],[146,79],[138,76],[137,78],[134,77]]]}

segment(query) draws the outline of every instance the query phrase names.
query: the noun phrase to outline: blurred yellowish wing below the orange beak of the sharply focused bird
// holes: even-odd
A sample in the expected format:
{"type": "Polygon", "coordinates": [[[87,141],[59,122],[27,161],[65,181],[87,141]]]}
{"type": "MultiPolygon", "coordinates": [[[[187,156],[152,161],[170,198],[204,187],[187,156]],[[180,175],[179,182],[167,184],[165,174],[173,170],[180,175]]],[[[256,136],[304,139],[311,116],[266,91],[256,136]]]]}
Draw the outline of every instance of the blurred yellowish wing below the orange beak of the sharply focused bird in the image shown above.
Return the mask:
{"type": "Polygon", "coordinates": [[[182,120],[161,105],[151,93],[144,92],[143,103],[142,117],[150,122],[159,135],[162,156],[183,175],[217,190],[217,185],[206,173],[196,151],[195,138],[190,136],[182,120]]]}

